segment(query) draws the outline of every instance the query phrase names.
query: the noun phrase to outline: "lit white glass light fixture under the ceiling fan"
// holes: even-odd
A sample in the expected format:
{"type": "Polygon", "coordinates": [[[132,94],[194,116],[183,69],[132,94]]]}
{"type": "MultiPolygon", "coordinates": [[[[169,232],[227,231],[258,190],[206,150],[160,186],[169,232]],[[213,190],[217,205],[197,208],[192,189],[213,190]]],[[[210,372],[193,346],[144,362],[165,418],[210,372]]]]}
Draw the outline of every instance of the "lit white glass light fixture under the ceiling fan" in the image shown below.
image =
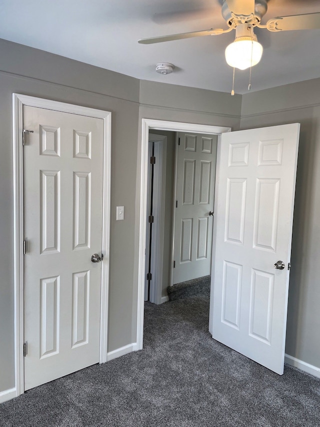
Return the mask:
{"type": "Polygon", "coordinates": [[[245,70],[256,65],[262,56],[262,45],[253,34],[251,37],[238,37],[225,49],[225,61],[232,68],[245,70]]]}

